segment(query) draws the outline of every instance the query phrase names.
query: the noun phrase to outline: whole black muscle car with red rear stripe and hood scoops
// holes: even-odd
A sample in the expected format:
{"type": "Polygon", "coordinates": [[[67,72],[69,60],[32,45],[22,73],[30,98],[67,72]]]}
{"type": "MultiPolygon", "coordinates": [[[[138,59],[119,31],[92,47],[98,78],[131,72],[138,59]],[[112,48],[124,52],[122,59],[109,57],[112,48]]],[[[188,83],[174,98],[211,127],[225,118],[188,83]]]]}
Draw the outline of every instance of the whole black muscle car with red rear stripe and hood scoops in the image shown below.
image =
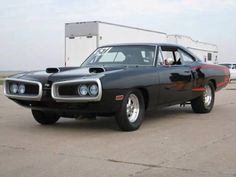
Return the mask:
{"type": "Polygon", "coordinates": [[[196,113],[212,110],[215,91],[229,70],[201,62],[171,44],[107,45],[80,67],[47,68],[8,77],[4,94],[28,107],[40,124],[60,117],[114,115],[125,131],[140,127],[149,108],[190,103],[196,113]]]}

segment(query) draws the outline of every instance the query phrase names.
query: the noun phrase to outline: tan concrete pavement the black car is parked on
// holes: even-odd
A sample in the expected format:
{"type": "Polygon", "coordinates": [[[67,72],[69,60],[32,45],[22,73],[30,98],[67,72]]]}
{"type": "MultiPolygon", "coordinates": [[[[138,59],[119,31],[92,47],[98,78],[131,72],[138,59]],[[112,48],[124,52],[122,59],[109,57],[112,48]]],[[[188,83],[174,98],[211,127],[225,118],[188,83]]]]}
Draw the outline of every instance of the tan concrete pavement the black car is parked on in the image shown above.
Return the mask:
{"type": "Polygon", "coordinates": [[[138,131],[114,118],[37,124],[0,86],[0,177],[235,177],[236,84],[209,114],[173,106],[146,113],[138,131]]]}

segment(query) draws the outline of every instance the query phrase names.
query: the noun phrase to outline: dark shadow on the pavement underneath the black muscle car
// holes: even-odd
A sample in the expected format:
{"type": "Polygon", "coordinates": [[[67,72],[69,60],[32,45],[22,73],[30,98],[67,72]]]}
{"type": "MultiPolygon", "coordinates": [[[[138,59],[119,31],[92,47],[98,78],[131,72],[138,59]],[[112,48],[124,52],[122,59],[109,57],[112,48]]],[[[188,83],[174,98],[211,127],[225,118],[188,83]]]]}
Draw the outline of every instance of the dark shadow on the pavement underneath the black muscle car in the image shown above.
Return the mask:
{"type": "MultiPolygon", "coordinates": [[[[186,114],[194,114],[190,106],[179,107],[172,106],[166,108],[152,109],[145,113],[145,120],[143,124],[152,124],[158,123],[164,119],[175,119],[175,118],[183,118],[187,119],[189,116],[186,114]],[[183,115],[183,116],[180,116],[183,115]]],[[[75,130],[89,130],[89,131],[110,131],[115,130],[119,131],[119,127],[116,123],[114,116],[112,117],[97,117],[95,120],[90,119],[82,119],[75,120],[70,118],[62,118],[58,121],[57,124],[53,126],[46,126],[54,129],[75,129],[75,130]]]]}

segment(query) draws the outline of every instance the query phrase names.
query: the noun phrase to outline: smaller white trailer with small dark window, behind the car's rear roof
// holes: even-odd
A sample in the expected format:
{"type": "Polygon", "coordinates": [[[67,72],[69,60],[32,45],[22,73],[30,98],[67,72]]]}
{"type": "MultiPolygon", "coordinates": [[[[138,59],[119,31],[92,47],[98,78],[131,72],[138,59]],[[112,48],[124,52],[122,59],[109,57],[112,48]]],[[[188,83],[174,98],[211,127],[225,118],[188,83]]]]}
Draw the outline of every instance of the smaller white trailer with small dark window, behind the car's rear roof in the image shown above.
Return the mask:
{"type": "Polygon", "coordinates": [[[193,40],[183,35],[167,35],[167,42],[185,46],[206,63],[218,63],[218,47],[215,44],[193,40]]]}

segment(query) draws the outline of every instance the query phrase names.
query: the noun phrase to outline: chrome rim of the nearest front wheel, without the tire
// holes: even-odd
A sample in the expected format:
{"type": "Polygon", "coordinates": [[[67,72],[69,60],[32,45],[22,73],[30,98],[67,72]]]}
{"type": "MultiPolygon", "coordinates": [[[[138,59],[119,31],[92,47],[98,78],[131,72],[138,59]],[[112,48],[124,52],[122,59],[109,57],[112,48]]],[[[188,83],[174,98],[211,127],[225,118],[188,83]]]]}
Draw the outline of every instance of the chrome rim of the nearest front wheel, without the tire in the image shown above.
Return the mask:
{"type": "Polygon", "coordinates": [[[139,100],[135,94],[130,94],[126,105],[126,114],[129,122],[133,123],[139,115],[139,100]]]}

